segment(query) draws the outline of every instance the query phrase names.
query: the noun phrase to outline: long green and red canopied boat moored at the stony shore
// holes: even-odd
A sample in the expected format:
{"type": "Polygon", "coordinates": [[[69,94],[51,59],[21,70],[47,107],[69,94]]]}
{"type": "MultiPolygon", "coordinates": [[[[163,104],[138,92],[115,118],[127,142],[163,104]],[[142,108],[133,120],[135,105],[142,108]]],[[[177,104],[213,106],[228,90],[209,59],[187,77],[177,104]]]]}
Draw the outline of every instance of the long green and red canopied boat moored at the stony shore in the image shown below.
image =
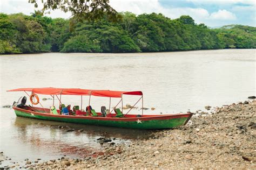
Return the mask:
{"type": "Polygon", "coordinates": [[[8,91],[24,91],[29,96],[30,104],[26,104],[26,96],[19,98],[14,102],[12,108],[16,116],[41,119],[45,121],[58,121],[78,124],[114,126],[118,128],[132,129],[171,129],[177,126],[186,125],[193,113],[179,113],[169,115],[156,115],[143,113],[143,93],[142,91],[112,91],[112,90],[90,90],[79,88],[18,88],[8,91]],[[38,95],[50,95],[52,97],[52,107],[44,108],[38,95]],[[81,104],[66,106],[62,103],[62,95],[80,96],[81,104]],[[139,100],[129,109],[123,109],[123,97],[125,95],[139,96],[139,100]],[[86,111],[83,110],[83,96],[89,96],[89,104],[86,105],[86,111]],[[96,112],[91,107],[91,96],[109,98],[108,109],[101,107],[100,112],[96,112]],[[111,108],[111,98],[120,98],[120,101],[111,108]],[[56,103],[57,100],[57,103],[56,103]],[[141,113],[134,115],[129,112],[138,102],[142,102],[141,113]],[[39,104],[41,107],[36,107],[39,104]],[[58,108],[55,108],[58,105],[58,108]],[[118,108],[119,105],[119,108],[118,108]],[[121,105],[121,106],[120,106],[121,105]]]}

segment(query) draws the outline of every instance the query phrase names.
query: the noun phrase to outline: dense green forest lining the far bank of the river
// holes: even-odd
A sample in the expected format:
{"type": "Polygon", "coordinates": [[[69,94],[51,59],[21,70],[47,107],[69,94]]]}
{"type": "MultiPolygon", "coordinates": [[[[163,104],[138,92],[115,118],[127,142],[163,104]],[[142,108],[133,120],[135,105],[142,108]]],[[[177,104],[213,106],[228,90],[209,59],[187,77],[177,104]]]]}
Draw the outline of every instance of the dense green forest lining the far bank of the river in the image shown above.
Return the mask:
{"type": "Polygon", "coordinates": [[[0,54],[42,52],[160,52],[256,48],[256,28],[228,25],[210,29],[190,16],[121,13],[120,22],[45,17],[35,11],[0,13],[0,54]]]}

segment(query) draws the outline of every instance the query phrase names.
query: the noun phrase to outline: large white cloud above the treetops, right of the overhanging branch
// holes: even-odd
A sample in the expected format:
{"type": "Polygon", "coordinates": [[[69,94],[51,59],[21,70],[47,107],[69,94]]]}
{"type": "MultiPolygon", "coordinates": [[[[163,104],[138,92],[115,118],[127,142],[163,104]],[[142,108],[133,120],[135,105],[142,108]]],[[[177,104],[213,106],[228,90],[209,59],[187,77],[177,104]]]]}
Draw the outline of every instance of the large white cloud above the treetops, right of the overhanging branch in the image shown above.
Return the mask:
{"type": "Polygon", "coordinates": [[[211,20],[235,20],[237,18],[234,13],[227,11],[225,9],[209,13],[204,8],[165,8],[165,6],[162,6],[158,0],[112,0],[110,1],[110,4],[113,6],[114,9],[116,9],[119,12],[131,11],[133,13],[136,13],[137,15],[142,13],[156,12],[163,13],[165,16],[170,17],[172,19],[179,18],[181,15],[189,15],[192,18],[194,18],[196,23],[211,23],[211,20]]]}

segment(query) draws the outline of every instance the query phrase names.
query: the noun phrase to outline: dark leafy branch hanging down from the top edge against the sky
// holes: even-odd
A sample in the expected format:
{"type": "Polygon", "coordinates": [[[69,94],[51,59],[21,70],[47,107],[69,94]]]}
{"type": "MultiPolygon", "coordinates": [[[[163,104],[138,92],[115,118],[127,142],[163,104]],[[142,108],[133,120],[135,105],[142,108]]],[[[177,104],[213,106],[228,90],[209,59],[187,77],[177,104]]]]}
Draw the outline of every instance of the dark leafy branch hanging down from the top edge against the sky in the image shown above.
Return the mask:
{"type": "Polygon", "coordinates": [[[60,9],[70,11],[78,20],[98,20],[106,16],[109,20],[117,21],[121,16],[109,5],[109,0],[29,0],[38,7],[38,1],[43,3],[43,12],[60,9]]]}

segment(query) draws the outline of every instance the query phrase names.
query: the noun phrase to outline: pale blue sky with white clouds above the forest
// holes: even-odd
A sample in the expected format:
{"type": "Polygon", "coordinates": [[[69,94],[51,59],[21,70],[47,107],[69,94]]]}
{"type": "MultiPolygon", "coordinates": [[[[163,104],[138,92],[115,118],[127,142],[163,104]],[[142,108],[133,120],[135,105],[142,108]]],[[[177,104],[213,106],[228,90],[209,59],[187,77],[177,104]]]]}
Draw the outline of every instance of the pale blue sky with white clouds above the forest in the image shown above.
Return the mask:
{"type": "MultiPolygon", "coordinates": [[[[30,15],[35,8],[28,1],[0,0],[0,10],[8,14],[22,12],[30,15]]],[[[38,5],[41,9],[41,0],[38,0],[38,5]]],[[[210,27],[230,24],[256,26],[256,1],[251,0],[110,0],[110,5],[118,12],[130,11],[136,15],[156,12],[171,19],[189,15],[197,24],[210,27]]],[[[55,10],[46,16],[69,18],[71,14],[55,10]]]]}

